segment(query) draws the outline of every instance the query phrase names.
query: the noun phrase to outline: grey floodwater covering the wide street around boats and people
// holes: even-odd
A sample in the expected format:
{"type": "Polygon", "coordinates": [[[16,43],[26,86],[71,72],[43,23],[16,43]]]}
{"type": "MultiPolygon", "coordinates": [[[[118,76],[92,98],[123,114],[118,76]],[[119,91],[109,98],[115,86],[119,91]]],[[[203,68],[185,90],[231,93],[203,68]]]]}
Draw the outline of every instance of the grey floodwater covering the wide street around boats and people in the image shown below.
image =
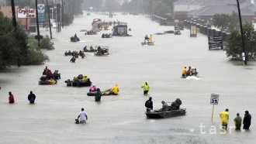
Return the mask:
{"type": "MultiPolygon", "coordinates": [[[[182,35],[154,35],[155,46],[141,46],[146,34],[163,33],[173,26],[159,26],[145,15],[83,15],[71,26],[56,33],[55,50],[45,51],[50,57],[45,65],[14,67],[0,73],[0,143],[254,143],[256,141],[256,63],[247,67],[227,59],[223,50],[208,50],[207,37],[182,35]],[[102,39],[100,32],[85,36],[81,29],[91,29],[92,19],[127,22],[132,30],[129,37],[102,39]],[[71,43],[77,33],[80,42],[71,43]],[[109,46],[109,56],[95,57],[85,53],[76,63],[64,57],[68,50],[82,50],[87,46],[109,46]],[[61,80],[56,85],[38,85],[43,69],[59,70],[61,80]],[[182,79],[183,67],[195,67],[199,80],[182,79]],[[102,97],[96,103],[86,94],[89,87],[67,87],[67,79],[78,74],[88,75],[102,91],[119,84],[119,95],[102,97]],[[149,96],[140,88],[150,84],[149,96]],[[16,103],[9,105],[8,92],[16,103]],[[36,104],[29,105],[29,91],[36,94],[36,104]],[[210,94],[220,94],[211,122],[210,94]],[[161,101],[182,100],[185,116],[147,119],[144,103],[153,98],[154,109],[161,101]],[[88,114],[86,125],[75,125],[81,108],[88,114]],[[229,126],[234,125],[237,112],[252,115],[251,131],[222,134],[219,113],[230,110],[229,126]],[[205,125],[199,129],[200,125],[205,125]],[[216,132],[210,131],[216,126],[216,132]],[[206,132],[206,133],[204,133],[206,132]]],[[[48,34],[45,30],[41,33],[48,34]]]]}

